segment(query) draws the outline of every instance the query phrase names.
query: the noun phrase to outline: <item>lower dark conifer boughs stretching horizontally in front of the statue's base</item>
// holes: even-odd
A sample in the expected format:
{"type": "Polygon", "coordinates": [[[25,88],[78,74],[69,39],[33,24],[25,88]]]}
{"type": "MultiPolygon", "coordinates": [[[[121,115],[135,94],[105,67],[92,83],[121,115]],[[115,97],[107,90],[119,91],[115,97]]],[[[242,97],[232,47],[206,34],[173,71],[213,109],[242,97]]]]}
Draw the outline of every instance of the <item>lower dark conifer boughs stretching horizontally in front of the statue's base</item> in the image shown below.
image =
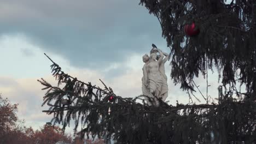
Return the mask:
{"type": "Polygon", "coordinates": [[[38,80],[48,89],[43,105],[50,107],[44,112],[54,113],[52,122],[62,124],[63,130],[73,119],[75,133],[78,125],[82,127],[81,137],[103,137],[106,143],[110,139],[158,144],[256,142],[255,101],[236,101],[225,92],[219,104],[172,106],[159,100],[160,106],[148,106],[144,101],[136,103],[142,96],[121,98],[103,82],[104,89],[69,76],[55,62],[51,68],[59,85],[63,82],[65,86],[61,89],[38,80]],[[63,105],[61,98],[67,93],[71,104],[63,105]]]}

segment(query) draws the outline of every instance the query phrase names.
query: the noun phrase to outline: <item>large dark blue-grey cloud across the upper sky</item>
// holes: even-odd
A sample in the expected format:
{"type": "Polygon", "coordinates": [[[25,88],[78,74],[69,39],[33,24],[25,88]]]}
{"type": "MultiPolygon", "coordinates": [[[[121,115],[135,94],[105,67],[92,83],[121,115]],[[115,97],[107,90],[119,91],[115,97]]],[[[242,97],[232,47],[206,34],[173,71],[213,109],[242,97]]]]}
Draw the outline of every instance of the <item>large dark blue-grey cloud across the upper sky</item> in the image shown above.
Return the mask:
{"type": "MultiPolygon", "coordinates": [[[[24,33],[45,52],[59,53],[74,67],[101,69],[130,53],[165,44],[156,17],[139,1],[6,1],[0,34],[24,33]],[[7,6],[6,6],[7,7],[7,6]],[[13,8],[13,9],[12,9],[13,8]]],[[[54,58],[53,58],[54,59],[54,58]]]]}

